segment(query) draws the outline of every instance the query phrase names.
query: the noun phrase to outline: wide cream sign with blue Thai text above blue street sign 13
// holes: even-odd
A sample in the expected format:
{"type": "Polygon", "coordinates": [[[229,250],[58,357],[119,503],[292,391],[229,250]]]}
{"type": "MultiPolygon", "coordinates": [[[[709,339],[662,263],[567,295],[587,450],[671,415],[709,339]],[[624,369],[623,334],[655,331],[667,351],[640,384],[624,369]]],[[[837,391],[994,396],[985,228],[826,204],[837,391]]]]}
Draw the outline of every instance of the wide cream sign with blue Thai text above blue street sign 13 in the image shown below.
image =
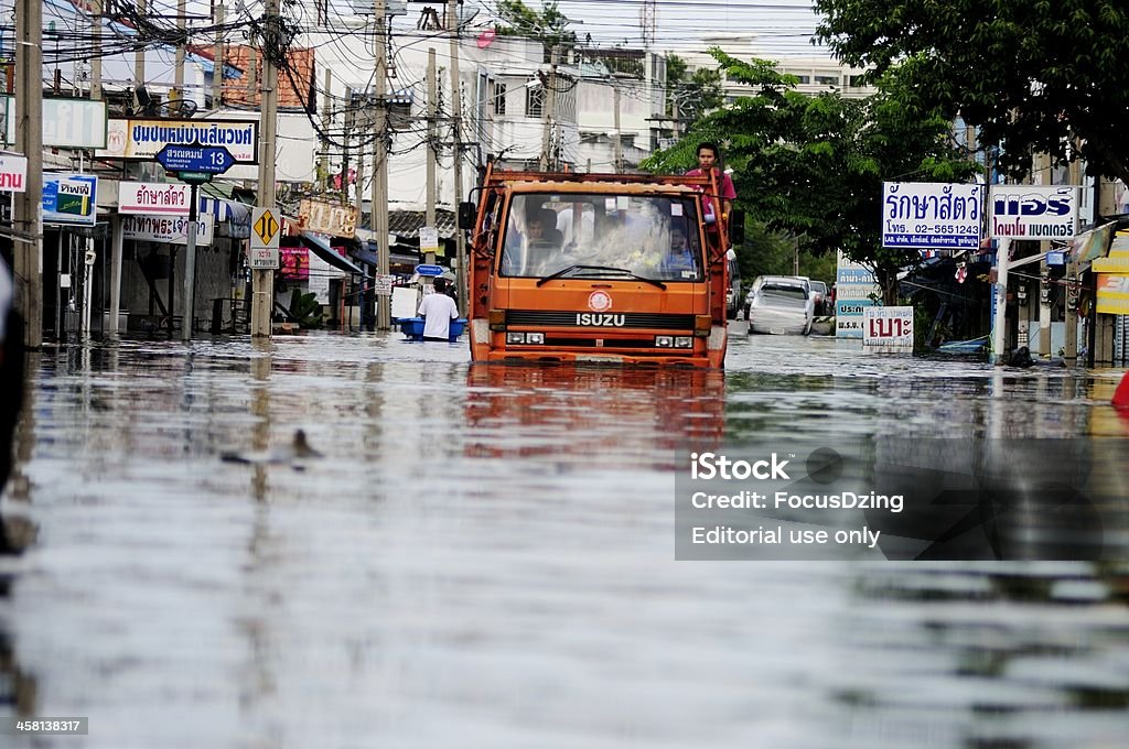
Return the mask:
{"type": "Polygon", "coordinates": [[[152,159],[169,143],[222,146],[239,164],[259,164],[259,123],[235,120],[111,120],[97,156],[152,159]]]}

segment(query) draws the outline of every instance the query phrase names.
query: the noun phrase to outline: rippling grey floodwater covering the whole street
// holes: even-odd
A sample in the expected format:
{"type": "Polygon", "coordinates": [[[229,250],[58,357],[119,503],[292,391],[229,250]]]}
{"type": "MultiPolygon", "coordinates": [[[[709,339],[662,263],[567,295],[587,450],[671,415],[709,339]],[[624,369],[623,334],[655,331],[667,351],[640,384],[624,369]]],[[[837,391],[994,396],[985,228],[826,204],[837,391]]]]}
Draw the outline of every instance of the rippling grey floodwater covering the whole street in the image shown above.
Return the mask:
{"type": "MultiPolygon", "coordinates": [[[[743,324],[737,324],[739,331],[743,324]]],[[[1123,747],[1129,565],[675,562],[680,444],[1129,434],[1120,372],[735,335],[721,373],[399,334],[33,358],[6,747],[1123,747]],[[321,458],[229,462],[296,430],[321,458]]]]}

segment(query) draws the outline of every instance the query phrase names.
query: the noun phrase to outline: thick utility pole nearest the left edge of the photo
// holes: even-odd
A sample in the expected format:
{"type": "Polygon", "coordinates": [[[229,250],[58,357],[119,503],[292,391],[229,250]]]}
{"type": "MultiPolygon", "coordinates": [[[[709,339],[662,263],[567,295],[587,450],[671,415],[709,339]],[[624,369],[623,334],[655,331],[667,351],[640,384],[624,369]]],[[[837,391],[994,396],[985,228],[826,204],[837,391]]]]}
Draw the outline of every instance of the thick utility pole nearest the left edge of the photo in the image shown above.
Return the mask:
{"type": "Polygon", "coordinates": [[[12,265],[24,345],[43,345],[43,2],[16,0],[16,148],[27,158],[27,190],[12,193],[12,265]]]}

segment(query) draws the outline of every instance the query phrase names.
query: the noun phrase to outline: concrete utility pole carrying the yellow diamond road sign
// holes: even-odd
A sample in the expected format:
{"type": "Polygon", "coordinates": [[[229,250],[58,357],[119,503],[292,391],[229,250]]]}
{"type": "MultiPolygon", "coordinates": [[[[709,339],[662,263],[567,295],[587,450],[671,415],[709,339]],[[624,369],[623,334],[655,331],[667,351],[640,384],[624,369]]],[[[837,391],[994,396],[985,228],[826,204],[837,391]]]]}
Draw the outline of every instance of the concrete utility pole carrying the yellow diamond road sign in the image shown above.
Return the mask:
{"type": "MultiPolygon", "coordinates": [[[[274,159],[279,113],[279,71],[273,55],[279,44],[279,0],[266,0],[266,34],[263,38],[263,106],[259,133],[259,196],[260,208],[274,211],[274,159]]],[[[271,335],[271,315],[274,311],[274,271],[251,271],[251,335],[271,335]]]]}

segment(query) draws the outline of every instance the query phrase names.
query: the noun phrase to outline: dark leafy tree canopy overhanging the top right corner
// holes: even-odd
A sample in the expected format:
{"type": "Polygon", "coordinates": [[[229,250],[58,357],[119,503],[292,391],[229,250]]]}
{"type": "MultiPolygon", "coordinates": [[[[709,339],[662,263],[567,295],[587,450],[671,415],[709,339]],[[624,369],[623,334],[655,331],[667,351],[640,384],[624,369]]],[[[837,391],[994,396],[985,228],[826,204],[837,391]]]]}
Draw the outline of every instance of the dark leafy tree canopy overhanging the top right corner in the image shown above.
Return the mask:
{"type": "Polygon", "coordinates": [[[1003,146],[1014,176],[1032,153],[1082,156],[1129,183],[1129,6],[1124,0],[815,0],[821,41],[895,80],[908,114],[935,108],[1003,146]]]}

